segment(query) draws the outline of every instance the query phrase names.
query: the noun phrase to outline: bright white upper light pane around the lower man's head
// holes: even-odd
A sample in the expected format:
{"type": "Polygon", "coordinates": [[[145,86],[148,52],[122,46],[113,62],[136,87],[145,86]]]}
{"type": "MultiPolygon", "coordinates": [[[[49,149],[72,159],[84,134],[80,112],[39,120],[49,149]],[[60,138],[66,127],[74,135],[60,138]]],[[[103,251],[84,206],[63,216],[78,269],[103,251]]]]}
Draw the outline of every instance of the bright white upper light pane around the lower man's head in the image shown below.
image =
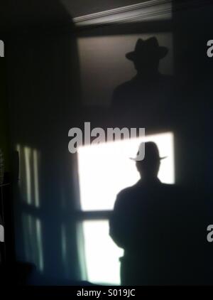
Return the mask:
{"type": "Polygon", "coordinates": [[[163,183],[175,183],[173,133],[127,139],[78,149],[80,202],[82,210],[111,210],[116,194],[139,179],[135,157],[141,141],[154,141],[160,156],[158,177],[163,183]]]}

